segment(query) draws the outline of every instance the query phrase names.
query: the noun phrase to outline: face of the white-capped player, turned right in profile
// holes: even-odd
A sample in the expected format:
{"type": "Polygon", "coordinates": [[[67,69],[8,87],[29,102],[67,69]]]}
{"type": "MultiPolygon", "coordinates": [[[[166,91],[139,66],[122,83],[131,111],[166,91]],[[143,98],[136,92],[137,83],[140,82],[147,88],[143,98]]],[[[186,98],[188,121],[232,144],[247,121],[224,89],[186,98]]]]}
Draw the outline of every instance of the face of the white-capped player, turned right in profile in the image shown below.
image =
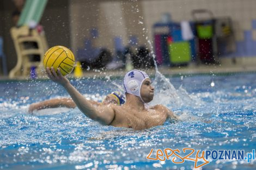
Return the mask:
{"type": "Polygon", "coordinates": [[[149,78],[145,79],[141,85],[141,98],[145,103],[151,102],[154,98],[154,87],[149,78]]]}

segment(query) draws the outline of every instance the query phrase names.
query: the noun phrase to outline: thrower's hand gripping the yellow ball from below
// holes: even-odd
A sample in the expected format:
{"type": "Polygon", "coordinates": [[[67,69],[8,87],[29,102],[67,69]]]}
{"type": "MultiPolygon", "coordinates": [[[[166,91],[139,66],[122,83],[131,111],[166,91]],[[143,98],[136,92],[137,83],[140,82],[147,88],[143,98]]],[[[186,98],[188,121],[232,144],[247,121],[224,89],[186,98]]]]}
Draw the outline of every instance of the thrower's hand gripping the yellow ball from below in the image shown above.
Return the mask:
{"type": "Polygon", "coordinates": [[[66,84],[69,84],[69,80],[66,77],[64,77],[62,73],[60,73],[59,68],[57,68],[57,73],[56,73],[53,67],[51,67],[51,70],[49,67],[46,67],[46,73],[52,81],[58,84],[61,84],[63,86],[65,86],[66,84]]]}

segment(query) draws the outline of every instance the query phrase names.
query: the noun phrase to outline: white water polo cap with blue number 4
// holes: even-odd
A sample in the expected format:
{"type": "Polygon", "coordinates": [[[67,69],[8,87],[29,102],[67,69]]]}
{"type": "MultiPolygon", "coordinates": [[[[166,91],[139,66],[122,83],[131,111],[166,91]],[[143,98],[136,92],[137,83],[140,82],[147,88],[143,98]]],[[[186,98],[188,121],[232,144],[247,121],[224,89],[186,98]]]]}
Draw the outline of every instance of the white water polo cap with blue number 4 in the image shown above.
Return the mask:
{"type": "MultiPolygon", "coordinates": [[[[142,82],[147,78],[149,78],[149,76],[144,71],[131,70],[127,72],[124,76],[125,92],[141,98],[141,85],[142,82]]],[[[141,100],[143,101],[142,98],[141,100]]]]}

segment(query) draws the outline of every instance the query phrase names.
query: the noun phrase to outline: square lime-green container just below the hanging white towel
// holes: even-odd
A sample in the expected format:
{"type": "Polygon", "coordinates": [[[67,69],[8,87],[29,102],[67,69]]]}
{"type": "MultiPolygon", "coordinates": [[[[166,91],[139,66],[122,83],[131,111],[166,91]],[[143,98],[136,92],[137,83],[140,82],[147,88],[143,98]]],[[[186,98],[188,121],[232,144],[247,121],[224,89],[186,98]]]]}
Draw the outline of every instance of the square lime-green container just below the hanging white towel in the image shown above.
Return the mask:
{"type": "Polygon", "coordinates": [[[187,41],[172,42],[168,46],[170,54],[170,63],[175,64],[187,64],[191,61],[191,49],[190,43],[187,41]]]}

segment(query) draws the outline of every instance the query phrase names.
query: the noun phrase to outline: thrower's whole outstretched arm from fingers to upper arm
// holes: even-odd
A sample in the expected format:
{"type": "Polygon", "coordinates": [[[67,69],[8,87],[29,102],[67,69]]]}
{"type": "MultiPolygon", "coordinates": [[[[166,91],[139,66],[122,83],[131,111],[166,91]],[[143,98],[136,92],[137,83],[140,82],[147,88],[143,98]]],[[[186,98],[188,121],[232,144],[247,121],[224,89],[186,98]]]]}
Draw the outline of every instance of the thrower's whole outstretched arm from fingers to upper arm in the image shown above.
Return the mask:
{"type": "Polygon", "coordinates": [[[52,81],[62,85],[66,89],[66,91],[68,91],[70,97],[74,100],[77,107],[83,112],[84,115],[105,125],[108,125],[113,121],[113,105],[106,105],[97,108],[93,106],[92,103],[84,98],[84,96],[80,92],[78,92],[74,86],[70,84],[69,80],[60,73],[59,68],[57,69],[58,74],[54,71],[53,67],[51,68],[51,70],[47,67],[46,72],[48,77],[52,81]]]}

